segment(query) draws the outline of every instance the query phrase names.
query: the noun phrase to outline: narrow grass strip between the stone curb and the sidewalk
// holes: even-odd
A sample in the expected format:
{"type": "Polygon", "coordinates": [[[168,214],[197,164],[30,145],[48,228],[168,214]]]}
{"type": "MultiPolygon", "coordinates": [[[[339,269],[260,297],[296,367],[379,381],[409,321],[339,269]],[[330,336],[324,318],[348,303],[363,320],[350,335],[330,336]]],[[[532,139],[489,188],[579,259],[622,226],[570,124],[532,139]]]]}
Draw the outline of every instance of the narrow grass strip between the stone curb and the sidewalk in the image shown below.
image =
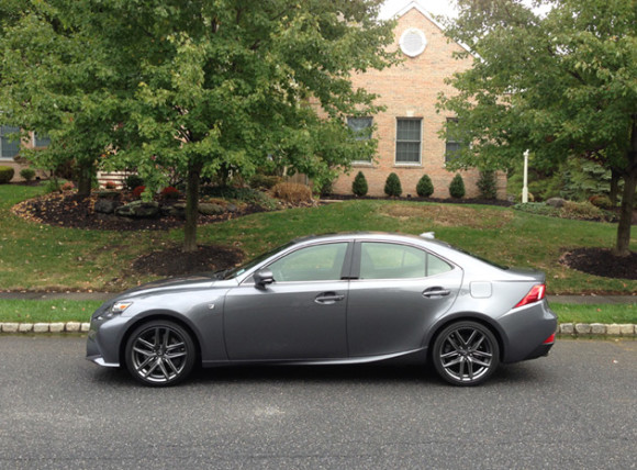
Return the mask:
{"type": "MultiPolygon", "coordinates": [[[[98,301],[0,300],[0,321],[21,323],[88,322],[98,301]]],[[[637,323],[637,304],[552,303],[560,323],[637,323]]]]}

